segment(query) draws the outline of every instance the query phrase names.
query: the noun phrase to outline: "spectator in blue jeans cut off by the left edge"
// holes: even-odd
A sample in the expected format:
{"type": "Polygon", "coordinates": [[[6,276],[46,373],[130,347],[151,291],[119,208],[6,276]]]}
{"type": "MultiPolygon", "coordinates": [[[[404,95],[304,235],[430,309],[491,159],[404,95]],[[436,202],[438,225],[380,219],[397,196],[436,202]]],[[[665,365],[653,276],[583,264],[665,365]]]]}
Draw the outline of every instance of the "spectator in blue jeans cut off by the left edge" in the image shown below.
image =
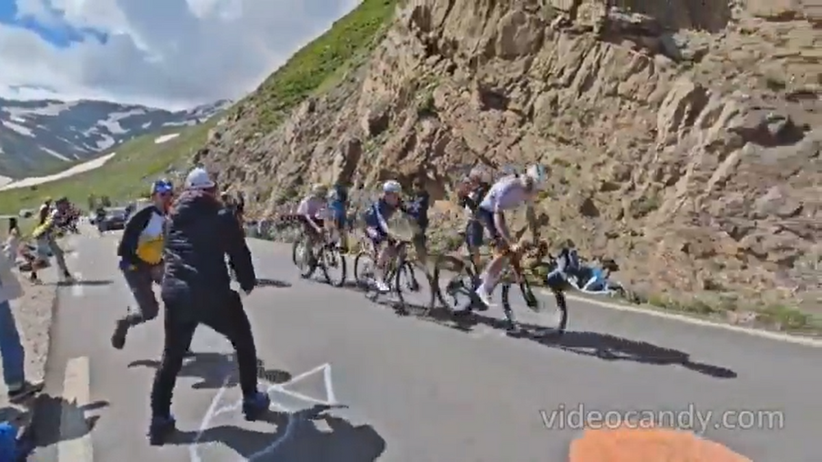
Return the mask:
{"type": "Polygon", "coordinates": [[[20,298],[23,289],[12,272],[12,261],[0,254],[0,356],[2,375],[9,400],[17,401],[43,390],[43,383],[25,380],[25,350],[12,312],[11,301],[20,298]]]}

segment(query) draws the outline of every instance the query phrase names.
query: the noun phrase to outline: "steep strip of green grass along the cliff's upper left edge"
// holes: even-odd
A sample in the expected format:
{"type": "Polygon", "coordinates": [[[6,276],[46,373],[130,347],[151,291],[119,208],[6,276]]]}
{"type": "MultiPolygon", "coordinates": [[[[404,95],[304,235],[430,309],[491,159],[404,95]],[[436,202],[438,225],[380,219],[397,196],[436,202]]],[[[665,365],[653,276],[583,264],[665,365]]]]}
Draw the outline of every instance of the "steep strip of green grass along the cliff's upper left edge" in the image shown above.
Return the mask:
{"type": "Polygon", "coordinates": [[[238,104],[259,109],[255,131],[270,131],[284,115],[312,93],[327,85],[349,61],[362,56],[376,44],[379,32],[394,14],[396,0],[363,0],[325,34],[300,49],[289,61],[271,74],[256,93],[238,104]]]}

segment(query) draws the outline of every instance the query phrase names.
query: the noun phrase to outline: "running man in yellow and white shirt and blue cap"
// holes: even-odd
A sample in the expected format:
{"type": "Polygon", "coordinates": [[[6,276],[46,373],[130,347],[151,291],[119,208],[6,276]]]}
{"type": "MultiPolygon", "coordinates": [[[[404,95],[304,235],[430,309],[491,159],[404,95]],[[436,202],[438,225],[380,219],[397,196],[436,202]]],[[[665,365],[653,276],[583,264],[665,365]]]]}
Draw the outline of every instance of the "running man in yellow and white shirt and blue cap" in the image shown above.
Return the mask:
{"type": "Polygon", "coordinates": [[[163,241],[165,216],[171,206],[174,188],[167,180],[151,185],[151,204],[138,210],[128,219],[118,246],[120,270],[132,290],[137,307],[129,309],[117,321],[111,344],[122,349],[132,326],[150,321],[159,314],[159,303],[152,284],[163,278],[163,241]]]}

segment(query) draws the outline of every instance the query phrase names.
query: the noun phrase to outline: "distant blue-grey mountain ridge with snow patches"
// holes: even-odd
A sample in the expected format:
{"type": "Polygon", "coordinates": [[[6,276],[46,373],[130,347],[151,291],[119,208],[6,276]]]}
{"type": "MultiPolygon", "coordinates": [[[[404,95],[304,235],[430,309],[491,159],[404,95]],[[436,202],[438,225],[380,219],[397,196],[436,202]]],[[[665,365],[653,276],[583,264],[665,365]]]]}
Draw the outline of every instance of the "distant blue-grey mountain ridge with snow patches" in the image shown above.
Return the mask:
{"type": "Polygon", "coordinates": [[[0,98],[0,175],[55,173],[123,141],[163,127],[194,125],[226,109],[221,99],[169,111],[109,101],[20,101],[0,98]]]}

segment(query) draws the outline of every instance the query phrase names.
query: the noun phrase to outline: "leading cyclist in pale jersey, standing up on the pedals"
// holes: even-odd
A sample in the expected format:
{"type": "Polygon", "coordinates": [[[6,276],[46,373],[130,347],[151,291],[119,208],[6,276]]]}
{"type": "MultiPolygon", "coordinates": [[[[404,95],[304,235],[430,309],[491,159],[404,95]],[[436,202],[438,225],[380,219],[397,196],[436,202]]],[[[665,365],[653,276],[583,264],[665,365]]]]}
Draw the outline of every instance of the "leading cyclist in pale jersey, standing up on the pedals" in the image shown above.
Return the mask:
{"type": "MultiPolygon", "coordinates": [[[[510,236],[506,225],[505,210],[512,210],[520,206],[527,206],[529,227],[533,238],[538,239],[536,216],[533,212],[533,200],[545,184],[547,172],[542,165],[532,165],[524,175],[510,175],[501,178],[487,192],[483,201],[477,207],[477,218],[483,224],[495,247],[507,248],[516,251],[516,243],[510,236]]],[[[497,254],[488,262],[483,274],[480,275],[480,284],[476,294],[485,308],[491,305],[491,293],[496,287],[501,270],[506,264],[504,255],[497,254]]],[[[470,310],[470,306],[467,311],[470,310]]]]}

